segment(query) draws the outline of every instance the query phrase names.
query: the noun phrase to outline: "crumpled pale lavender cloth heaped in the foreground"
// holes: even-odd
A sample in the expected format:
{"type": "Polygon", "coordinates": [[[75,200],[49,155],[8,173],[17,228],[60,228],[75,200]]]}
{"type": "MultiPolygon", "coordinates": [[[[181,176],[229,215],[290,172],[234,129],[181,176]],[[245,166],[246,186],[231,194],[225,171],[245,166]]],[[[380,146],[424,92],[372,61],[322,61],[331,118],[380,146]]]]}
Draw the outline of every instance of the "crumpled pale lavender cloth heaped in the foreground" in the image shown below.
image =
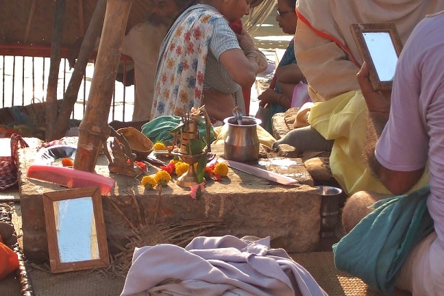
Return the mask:
{"type": "Polygon", "coordinates": [[[121,296],[327,295],[270,238],[194,238],[185,248],[163,244],[134,250],[121,296]]]}

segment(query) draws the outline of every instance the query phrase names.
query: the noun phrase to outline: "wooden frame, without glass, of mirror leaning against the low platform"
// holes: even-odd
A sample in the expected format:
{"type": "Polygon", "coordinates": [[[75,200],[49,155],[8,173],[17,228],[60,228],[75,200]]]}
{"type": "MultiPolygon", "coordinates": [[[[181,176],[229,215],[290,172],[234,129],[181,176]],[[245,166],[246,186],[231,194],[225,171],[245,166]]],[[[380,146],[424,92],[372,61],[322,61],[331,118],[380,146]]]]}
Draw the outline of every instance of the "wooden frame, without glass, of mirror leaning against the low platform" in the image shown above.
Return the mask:
{"type": "Polygon", "coordinates": [[[106,267],[110,264],[108,254],[108,243],[106,239],[106,227],[103,219],[103,208],[99,187],[74,188],[68,190],[58,190],[44,193],[43,210],[45,212],[46,231],[48,238],[49,263],[53,273],[66,271],[77,271],[84,269],[94,269],[106,267]],[[98,259],[82,260],[74,262],[62,262],[60,260],[60,249],[58,243],[56,212],[54,210],[55,201],[67,199],[78,199],[81,197],[91,197],[93,203],[93,214],[95,230],[97,234],[98,259]]]}

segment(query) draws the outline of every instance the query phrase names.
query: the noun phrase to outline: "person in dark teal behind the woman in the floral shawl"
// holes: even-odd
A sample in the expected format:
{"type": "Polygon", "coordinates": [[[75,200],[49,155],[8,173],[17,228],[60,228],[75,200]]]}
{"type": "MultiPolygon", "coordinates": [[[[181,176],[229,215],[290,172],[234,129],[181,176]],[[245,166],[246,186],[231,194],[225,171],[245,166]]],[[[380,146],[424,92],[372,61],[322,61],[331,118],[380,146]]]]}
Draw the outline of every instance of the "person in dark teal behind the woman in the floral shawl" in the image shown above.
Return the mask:
{"type": "MultiPolygon", "coordinates": [[[[276,21],[282,32],[294,35],[296,32],[297,15],[296,0],[278,0],[276,21]]],[[[259,95],[259,110],[256,117],[262,120],[262,127],[267,132],[273,134],[271,117],[279,112],[285,112],[290,107],[300,107],[301,104],[292,106],[293,90],[299,82],[304,81],[304,75],[299,70],[295,58],[294,39],[292,39],[286,48],[282,60],[277,65],[275,75],[271,80],[270,86],[259,95]]],[[[306,95],[308,99],[308,93],[306,95]]],[[[305,103],[302,102],[302,103],[305,103]]]]}

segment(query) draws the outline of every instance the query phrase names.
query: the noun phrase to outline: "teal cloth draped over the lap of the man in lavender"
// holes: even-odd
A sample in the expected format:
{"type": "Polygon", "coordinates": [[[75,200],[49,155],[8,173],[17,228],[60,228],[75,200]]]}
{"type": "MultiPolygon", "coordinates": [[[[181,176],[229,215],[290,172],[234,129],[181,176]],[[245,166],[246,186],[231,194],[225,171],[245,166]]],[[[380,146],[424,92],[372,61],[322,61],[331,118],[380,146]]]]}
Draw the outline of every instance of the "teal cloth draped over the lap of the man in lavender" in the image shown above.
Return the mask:
{"type": "Polygon", "coordinates": [[[334,264],[371,288],[391,293],[410,250],[433,229],[429,186],[376,202],[370,214],[333,245],[334,264]]]}

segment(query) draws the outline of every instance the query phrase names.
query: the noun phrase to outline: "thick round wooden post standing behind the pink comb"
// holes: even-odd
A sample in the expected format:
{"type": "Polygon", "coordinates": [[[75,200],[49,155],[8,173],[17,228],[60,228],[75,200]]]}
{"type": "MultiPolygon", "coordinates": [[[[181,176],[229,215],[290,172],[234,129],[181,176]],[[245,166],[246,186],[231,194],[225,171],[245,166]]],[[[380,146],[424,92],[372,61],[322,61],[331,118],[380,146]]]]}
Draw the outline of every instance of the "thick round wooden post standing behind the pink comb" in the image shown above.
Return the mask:
{"type": "Polygon", "coordinates": [[[107,1],[93,82],[79,126],[74,169],[94,171],[99,151],[110,135],[108,115],[131,5],[132,0],[107,1]]]}

